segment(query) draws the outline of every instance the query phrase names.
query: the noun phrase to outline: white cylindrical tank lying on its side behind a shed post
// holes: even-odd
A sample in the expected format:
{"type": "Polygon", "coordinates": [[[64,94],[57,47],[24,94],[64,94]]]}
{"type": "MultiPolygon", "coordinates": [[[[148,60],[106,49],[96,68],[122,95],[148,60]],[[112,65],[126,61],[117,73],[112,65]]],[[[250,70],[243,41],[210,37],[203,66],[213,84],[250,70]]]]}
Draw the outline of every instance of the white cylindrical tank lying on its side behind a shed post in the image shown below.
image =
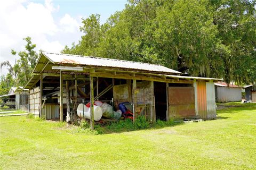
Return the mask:
{"type": "MultiPolygon", "coordinates": [[[[79,117],[83,117],[83,105],[84,104],[79,104],[77,107],[77,115],[79,117]]],[[[102,116],[102,108],[99,106],[93,106],[94,108],[94,121],[99,121],[102,116]]],[[[88,118],[91,120],[91,108],[88,108],[84,105],[84,118],[88,118]]]]}

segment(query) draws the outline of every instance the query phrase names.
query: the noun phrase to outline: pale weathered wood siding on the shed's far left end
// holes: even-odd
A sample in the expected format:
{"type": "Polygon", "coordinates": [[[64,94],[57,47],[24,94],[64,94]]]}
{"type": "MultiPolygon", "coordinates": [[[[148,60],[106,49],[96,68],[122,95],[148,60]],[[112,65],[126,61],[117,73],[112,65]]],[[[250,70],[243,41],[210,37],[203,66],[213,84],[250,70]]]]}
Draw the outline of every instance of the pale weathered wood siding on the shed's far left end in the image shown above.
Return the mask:
{"type": "Polygon", "coordinates": [[[36,87],[29,91],[29,105],[30,113],[39,117],[39,107],[40,107],[40,89],[36,87]]]}

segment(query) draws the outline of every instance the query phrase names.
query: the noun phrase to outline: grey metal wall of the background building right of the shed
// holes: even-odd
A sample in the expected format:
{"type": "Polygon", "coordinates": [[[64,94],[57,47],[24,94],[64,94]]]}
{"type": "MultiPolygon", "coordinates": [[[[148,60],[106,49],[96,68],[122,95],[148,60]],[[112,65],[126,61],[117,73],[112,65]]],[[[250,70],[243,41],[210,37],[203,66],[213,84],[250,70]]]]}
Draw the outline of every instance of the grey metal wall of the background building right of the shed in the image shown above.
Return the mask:
{"type": "Polygon", "coordinates": [[[229,102],[229,101],[241,101],[242,89],[233,87],[217,87],[217,101],[229,102]]]}

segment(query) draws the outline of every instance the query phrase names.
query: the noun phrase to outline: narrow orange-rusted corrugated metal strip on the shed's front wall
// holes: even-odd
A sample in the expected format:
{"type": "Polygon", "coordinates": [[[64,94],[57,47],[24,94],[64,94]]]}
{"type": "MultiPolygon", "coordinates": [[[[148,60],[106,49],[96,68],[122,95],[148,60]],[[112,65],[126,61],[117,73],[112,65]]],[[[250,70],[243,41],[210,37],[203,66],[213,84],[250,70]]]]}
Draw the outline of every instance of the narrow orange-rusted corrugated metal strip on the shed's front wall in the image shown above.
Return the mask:
{"type": "Polygon", "coordinates": [[[197,80],[197,109],[201,118],[207,118],[206,106],[206,83],[204,80],[197,80]]]}

